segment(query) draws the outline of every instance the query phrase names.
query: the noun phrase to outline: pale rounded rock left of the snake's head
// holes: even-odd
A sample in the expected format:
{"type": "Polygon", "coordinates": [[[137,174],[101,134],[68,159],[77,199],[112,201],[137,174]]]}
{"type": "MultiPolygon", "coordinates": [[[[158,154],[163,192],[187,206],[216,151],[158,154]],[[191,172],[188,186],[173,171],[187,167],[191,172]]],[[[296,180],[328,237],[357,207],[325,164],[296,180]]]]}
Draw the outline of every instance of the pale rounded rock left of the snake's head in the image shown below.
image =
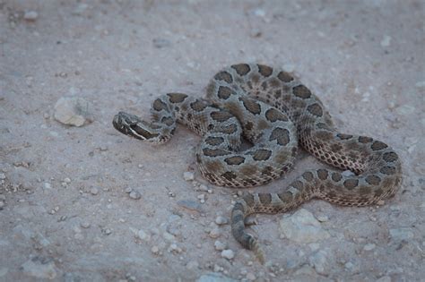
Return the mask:
{"type": "Polygon", "coordinates": [[[55,118],[62,124],[82,126],[92,121],[89,113],[90,104],[83,98],[59,98],[55,105],[55,118]]]}

